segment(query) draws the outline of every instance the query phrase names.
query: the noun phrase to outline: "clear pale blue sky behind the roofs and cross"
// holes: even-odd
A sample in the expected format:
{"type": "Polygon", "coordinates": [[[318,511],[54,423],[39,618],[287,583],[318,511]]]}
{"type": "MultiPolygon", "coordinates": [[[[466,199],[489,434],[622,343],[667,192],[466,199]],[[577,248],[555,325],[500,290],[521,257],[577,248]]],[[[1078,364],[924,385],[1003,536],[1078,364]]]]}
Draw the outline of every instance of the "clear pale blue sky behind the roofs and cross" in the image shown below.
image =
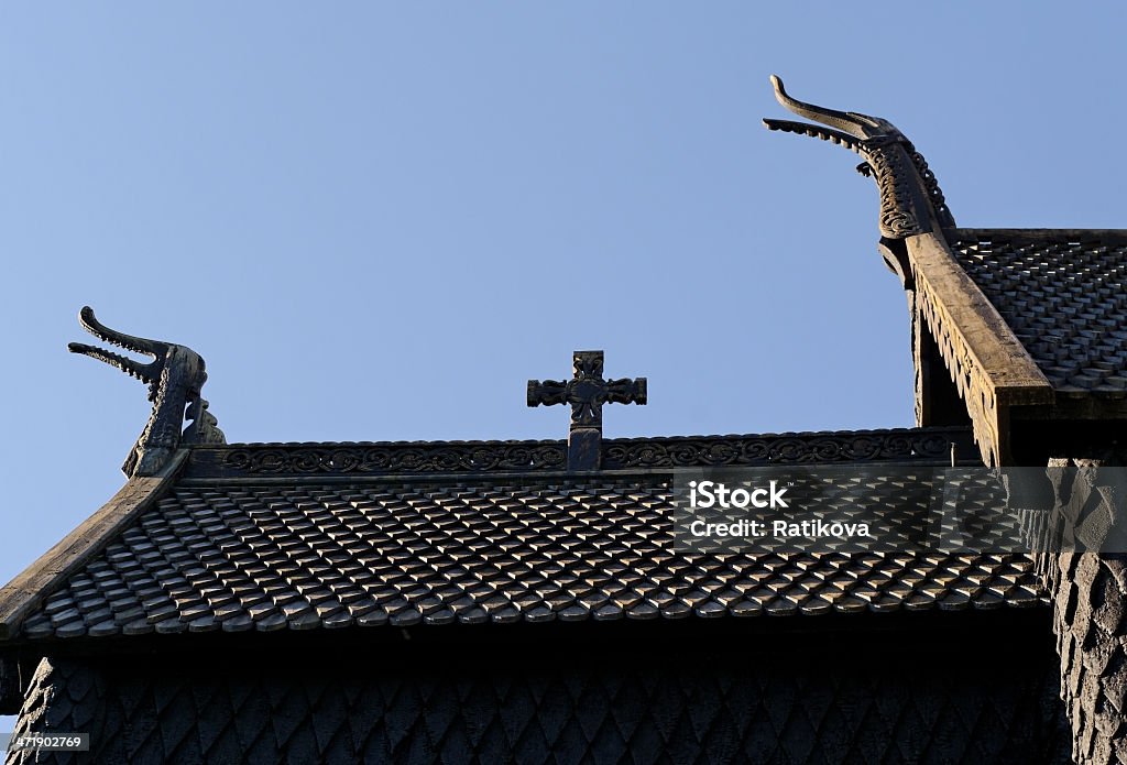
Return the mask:
{"type": "MultiPolygon", "coordinates": [[[[230,442],[562,438],[525,381],[649,377],[609,436],[913,424],[859,159],[894,122],[960,225],[1127,225],[1127,11],[1098,3],[0,9],[0,580],[149,415],[81,305],[187,345],[230,442]]],[[[10,721],[0,718],[0,729],[10,721]]]]}

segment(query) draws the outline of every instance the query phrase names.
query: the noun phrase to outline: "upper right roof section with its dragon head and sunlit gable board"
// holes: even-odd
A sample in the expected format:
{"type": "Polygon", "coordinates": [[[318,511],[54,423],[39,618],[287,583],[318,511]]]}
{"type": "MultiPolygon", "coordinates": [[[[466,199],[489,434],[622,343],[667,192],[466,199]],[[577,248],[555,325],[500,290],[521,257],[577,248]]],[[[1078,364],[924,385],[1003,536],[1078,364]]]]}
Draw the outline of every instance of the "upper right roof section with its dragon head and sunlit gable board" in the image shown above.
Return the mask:
{"type": "Polygon", "coordinates": [[[1127,230],[959,229],[934,172],[890,122],[792,98],[880,192],[880,252],[912,310],[917,425],[969,421],[991,465],[1045,464],[1091,420],[1127,420],[1127,230]],[[1048,424],[1038,427],[1030,424],[1048,424]],[[1017,435],[1015,435],[1017,434],[1017,435]]]}

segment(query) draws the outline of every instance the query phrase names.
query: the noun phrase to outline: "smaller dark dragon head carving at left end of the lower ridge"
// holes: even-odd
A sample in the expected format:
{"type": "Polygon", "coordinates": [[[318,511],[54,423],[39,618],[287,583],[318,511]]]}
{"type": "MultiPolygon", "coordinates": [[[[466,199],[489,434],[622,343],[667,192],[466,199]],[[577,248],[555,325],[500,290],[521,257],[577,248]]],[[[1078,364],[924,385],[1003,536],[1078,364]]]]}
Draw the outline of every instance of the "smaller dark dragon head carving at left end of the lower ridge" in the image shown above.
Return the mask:
{"type": "Polygon", "coordinates": [[[222,430],[215,427],[215,417],[207,411],[207,401],[201,397],[207,373],[199,354],[186,346],[148,340],[109,329],[98,321],[90,306],[85,306],[79,313],[79,323],[105,343],[153,359],[143,364],[83,343],[66,346],[73,354],[90,356],[116,366],[149,386],[152,413],[122,465],[126,475],[154,475],[168,463],[181,443],[225,443],[222,430]],[[181,433],[185,417],[190,424],[181,433]]]}

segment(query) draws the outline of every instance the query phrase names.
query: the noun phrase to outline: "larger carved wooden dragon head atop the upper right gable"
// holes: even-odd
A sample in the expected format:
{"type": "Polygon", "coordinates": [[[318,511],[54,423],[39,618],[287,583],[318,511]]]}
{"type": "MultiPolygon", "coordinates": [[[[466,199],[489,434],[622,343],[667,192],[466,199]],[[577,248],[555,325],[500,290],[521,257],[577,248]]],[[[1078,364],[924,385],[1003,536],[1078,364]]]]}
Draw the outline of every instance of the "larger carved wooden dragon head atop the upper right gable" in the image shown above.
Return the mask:
{"type": "Polygon", "coordinates": [[[859,153],[864,162],[858,172],[875,177],[880,189],[880,233],[904,239],[932,230],[932,219],[941,228],[955,225],[935,175],[923,154],[915,150],[896,125],[858,112],[838,112],[791,98],[782,80],[772,74],[775,99],[795,114],[820,125],[764,119],[767,130],[797,133],[829,141],[859,153]],[[823,127],[825,125],[826,127],[823,127]]]}

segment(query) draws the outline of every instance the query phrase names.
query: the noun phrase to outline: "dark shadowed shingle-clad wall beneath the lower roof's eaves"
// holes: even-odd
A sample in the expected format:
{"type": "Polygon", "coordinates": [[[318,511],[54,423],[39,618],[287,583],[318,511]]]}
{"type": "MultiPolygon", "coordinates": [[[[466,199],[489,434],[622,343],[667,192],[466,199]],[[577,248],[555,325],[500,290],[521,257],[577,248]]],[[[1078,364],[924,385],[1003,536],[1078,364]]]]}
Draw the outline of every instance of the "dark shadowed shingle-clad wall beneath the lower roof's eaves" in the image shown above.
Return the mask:
{"type": "Polygon", "coordinates": [[[134,764],[1067,762],[1049,641],[991,634],[1005,640],[54,658],[17,732],[88,731],[94,762],[134,764]]]}

